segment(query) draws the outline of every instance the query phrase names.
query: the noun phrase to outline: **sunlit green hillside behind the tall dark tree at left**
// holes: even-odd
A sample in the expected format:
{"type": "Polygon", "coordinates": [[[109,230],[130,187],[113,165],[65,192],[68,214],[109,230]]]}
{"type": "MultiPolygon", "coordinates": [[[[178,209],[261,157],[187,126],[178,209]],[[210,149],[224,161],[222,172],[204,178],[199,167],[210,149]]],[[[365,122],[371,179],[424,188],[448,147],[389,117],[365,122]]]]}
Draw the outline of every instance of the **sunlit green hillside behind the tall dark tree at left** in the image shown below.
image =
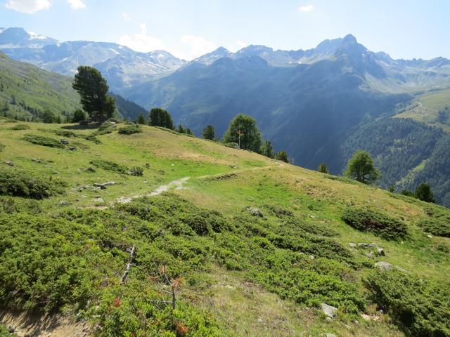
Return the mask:
{"type": "Polygon", "coordinates": [[[39,119],[45,110],[67,115],[79,108],[72,79],[11,60],[0,52],[0,114],[39,119]]]}

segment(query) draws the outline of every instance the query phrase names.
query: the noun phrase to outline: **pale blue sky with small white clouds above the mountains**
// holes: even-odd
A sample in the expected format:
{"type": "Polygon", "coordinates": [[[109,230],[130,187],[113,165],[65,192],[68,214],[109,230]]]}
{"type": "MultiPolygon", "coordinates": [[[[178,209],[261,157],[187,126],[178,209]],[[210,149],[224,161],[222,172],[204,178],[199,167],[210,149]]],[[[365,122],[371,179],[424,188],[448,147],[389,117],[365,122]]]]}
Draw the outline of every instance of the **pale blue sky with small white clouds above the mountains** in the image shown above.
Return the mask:
{"type": "Polygon", "coordinates": [[[392,58],[450,58],[450,0],[1,0],[0,27],[186,60],[219,46],[314,48],[347,34],[392,58]]]}

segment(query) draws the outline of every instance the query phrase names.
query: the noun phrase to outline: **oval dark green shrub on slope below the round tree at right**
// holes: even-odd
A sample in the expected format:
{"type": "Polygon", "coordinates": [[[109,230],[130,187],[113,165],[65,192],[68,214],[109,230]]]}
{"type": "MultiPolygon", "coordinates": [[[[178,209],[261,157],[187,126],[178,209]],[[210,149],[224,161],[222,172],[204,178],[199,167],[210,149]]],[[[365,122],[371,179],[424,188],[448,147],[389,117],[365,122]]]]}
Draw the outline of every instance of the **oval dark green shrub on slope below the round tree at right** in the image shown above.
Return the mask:
{"type": "Polygon", "coordinates": [[[406,225],[395,218],[374,209],[349,207],[342,214],[342,220],[356,230],[373,232],[384,239],[397,239],[406,235],[406,225]]]}

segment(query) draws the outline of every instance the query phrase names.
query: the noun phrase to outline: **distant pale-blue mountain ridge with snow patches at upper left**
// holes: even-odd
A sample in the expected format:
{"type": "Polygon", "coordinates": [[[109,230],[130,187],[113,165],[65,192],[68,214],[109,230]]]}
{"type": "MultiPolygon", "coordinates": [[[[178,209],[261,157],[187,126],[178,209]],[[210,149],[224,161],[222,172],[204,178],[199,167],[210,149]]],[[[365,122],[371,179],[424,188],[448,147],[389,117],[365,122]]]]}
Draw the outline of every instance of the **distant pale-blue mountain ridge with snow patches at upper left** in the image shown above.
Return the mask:
{"type": "Polygon", "coordinates": [[[0,50],[15,60],[68,76],[73,76],[79,65],[94,66],[105,73],[115,92],[173,72],[186,63],[166,51],[139,53],[110,42],[59,42],[18,27],[0,29],[0,50]]]}

